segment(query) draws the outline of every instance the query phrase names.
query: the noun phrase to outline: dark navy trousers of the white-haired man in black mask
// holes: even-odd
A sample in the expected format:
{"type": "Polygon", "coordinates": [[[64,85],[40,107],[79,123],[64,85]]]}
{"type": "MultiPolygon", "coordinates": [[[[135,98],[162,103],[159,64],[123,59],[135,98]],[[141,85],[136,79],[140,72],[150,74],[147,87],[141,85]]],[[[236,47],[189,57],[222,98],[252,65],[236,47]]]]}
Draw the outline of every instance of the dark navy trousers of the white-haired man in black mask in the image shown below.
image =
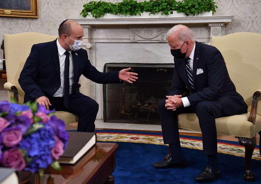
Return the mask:
{"type": "Polygon", "coordinates": [[[215,118],[227,116],[223,112],[220,101],[201,101],[195,106],[179,107],[175,111],[167,110],[165,100],[158,103],[161,118],[161,128],[164,144],[179,143],[179,128],[177,115],[183,113],[196,113],[202,132],[203,152],[213,155],[217,152],[217,130],[215,118]]]}

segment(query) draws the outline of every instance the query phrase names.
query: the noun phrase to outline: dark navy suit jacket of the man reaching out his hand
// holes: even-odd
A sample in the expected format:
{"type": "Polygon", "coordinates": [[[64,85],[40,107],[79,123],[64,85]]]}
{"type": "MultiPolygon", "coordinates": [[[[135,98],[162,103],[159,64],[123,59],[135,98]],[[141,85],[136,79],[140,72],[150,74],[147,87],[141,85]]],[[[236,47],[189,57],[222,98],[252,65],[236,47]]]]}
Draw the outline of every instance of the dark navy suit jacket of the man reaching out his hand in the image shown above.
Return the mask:
{"type": "MultiPolygon", "coordinates": [[[[102,73],[92,66],[86,50],[72,51],[72,57],[74,92],[82,74],[96,83],[120,83],[118,71],[102,73]]],[[[18,81],[25,92],[24,102],[34,101],[40,96],[54,95],[61,86],[56,40],[32,46],[18,81]]]]}

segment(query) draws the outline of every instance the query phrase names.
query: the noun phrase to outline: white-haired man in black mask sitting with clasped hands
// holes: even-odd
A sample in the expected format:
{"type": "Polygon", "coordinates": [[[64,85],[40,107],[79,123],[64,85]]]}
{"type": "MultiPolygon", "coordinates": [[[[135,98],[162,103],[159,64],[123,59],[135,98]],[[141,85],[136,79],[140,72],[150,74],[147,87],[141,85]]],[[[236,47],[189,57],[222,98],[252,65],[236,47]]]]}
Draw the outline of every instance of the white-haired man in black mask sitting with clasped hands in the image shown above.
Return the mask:
{"type": "Polygon", "coordinates": [[[167,38],[175,68],[169,95],[158,103],[158,110],[164,144],[169,144],[170,154],[153,165],[157,168],[186,167],[177,115],[196,113],[208,161],[195,179],[212,181],[220,175],[215,118],[247,113],[247,105],[236,92],[217,48],[196,42],[193,32],[184,25],[170,29],[167,38]],[[186,88],[189,95],[183,95],[186,88]]]}

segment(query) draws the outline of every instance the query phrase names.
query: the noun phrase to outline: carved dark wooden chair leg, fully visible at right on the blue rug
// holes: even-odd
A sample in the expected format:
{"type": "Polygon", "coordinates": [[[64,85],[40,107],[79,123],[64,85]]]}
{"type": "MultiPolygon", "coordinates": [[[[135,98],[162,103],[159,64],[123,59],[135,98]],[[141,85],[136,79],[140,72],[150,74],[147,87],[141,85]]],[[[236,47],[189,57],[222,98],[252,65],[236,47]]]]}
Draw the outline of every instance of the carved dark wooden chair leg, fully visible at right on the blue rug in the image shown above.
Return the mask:
{"type": "Polygon", "coordinates": [[[256,145],[256,137],[252,138],[244,138],[244,137],[236,137],[238,138],[238,142],[245,147],[245,175],[244,180],[254,181],[255,175],[250,170],[250,162],[252,158],[252,154],[256,145]]]}

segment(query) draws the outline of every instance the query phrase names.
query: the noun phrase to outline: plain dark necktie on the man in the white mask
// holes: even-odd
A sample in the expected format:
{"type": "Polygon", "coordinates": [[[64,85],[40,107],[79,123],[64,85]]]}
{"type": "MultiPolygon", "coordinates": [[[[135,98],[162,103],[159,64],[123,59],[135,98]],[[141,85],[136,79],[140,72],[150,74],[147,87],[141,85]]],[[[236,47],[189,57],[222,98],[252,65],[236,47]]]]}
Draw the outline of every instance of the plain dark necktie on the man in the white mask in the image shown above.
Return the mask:
{"type": "Polygon", "coordinates": [[[65,51],[66,55],[65,62],[64,62],[64,106],[68,109],[69,108],[69,89],[70,89],[70,82],[69,82],[69,67],[70,67],[70,53],[65,51]]]}

